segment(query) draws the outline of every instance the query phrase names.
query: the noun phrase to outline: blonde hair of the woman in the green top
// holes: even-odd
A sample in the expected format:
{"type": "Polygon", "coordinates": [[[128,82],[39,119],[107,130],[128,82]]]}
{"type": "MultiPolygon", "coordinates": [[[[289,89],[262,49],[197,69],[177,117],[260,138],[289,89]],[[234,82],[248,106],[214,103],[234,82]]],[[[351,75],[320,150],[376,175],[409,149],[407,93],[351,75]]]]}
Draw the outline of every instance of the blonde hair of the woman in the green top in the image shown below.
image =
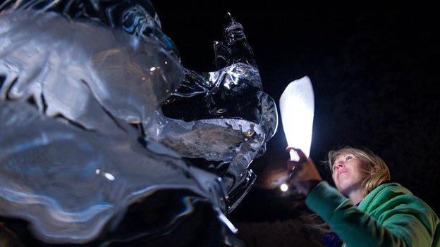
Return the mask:
{"type": "Polygon", "coordinates": [[[369,175],[362,182],[362,189],[364,196],[367,196],[369,192],[379,186],[381,183],[391,180],[391,175],[386,166],[384,160],[379,156],[369,151],[367,148],[352,148],[350,146],[344,146],[336,151],[329,151],[329,158],[326,163],[329,165],[330,171],[333,172],[334,161],[341,154],[351,153],[363,162],[369,164],[370,170],[367,171],[369,175]]]}

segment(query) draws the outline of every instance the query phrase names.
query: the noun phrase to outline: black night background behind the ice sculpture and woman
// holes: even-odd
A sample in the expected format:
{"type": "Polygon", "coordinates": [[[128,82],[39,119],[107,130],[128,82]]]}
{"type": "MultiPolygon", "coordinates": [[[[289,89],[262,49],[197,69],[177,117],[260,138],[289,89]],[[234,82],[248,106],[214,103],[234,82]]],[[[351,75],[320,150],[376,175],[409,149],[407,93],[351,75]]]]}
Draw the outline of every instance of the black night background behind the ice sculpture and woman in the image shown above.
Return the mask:
{"type": "MultiPolygon", "coordinates": [[[[394,181],[440,213],[437,6],[404,6],[397,1],[388,6],[152,2],[164,32],[181,51],[183,65],[197,71],[214,70],[212,44],[221,39],[221,23],[231,11],[245,27],[264,91],[277,103],[292,80],[304,75],[312,80],[311,157],[316,163],[331,148],[370,148],[388,163],[394,181]]],[[[238,224],[295,217],[286,206],[288,197],[261,186],[271,170],[285,164],[285,146],[280,124],[267,153],[253,163],[257,186],[231,214],[238,224]]]]}

